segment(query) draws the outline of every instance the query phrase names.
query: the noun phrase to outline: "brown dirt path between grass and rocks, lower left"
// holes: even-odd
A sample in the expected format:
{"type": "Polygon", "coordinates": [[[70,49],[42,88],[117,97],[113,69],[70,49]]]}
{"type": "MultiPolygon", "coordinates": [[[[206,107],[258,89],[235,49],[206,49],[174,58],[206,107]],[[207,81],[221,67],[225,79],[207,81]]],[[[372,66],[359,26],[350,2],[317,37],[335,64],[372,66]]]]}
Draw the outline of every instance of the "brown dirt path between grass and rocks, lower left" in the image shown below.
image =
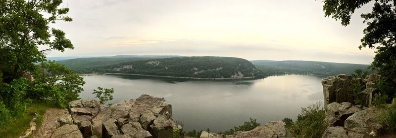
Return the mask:
{"type": "Polygon", "coordinates": [[[47,109],[46,113],[44,114],[44,121],[41,124],[39,131],[34,134],[33,138],[50,138],[53,131],[56,129],[56,125],[58,124],[56,118],[64,114],[64,112],[68,112],[67,109],[47,109]]]}

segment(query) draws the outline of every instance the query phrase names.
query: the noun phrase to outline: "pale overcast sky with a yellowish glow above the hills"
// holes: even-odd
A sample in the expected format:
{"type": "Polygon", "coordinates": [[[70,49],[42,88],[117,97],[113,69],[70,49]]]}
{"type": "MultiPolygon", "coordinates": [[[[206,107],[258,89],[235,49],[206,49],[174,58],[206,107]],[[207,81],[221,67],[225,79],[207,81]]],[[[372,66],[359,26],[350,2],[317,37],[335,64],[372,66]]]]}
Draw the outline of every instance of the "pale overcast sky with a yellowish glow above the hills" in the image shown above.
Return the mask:
{"type": "MultiPolygon", "coordinates": [[[[372,4],[371,4],[372,5],[372,4]]],[[[370,64],[357,48],[361,13],[351,24],[324,17],[322,0],[64,0],[73,22],[58,22],[74,50],[48,57],[227,56],[370,64]]]]}

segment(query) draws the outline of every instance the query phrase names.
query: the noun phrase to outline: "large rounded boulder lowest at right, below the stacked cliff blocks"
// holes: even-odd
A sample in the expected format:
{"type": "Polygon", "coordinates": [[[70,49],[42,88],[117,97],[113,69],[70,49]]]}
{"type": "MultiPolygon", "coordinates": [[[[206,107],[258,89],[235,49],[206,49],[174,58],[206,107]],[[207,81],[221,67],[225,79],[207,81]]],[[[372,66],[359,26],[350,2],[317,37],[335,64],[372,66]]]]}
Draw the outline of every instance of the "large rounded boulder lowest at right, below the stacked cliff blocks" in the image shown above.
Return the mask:
{"type": "MultiPolygon", "coordinates": [[[[381,126],[377,118],[380,115],[380,109],[369,107],[365,110],[355,112],[345,120],[344,127],[347,130],[357,132],[360,134],[370,133],[371,131],[377,132],[377,130],[372,130],[373,126],[381,126]]],[[[376,129],[381,129],[381,127],[374,127],[376,129]]]]}

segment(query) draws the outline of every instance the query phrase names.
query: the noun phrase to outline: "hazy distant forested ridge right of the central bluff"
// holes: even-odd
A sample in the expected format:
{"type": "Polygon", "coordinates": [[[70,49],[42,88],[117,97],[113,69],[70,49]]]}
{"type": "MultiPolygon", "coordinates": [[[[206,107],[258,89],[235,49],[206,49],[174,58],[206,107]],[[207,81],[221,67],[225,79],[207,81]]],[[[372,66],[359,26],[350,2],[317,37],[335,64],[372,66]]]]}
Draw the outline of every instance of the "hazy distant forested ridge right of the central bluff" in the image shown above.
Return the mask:
{"type": "MultiPolygon", "coordinates": [[[[265,76],[274,74],[315,74],[333,76],[338,74],[352,74],[355,69],[366,70],[369,65],[328,63],[317,61],[250,61],[257,69],[263,70],[265,76]]],[[[373,72],[371,70],[367,70],[373,72]]]]}

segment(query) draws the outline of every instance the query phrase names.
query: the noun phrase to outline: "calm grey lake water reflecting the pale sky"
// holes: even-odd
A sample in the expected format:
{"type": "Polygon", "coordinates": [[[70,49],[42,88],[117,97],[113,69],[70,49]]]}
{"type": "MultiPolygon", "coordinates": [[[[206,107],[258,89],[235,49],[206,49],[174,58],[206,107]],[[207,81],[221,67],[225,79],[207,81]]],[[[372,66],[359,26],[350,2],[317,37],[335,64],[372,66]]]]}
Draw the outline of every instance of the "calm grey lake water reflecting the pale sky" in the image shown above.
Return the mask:
{"type": "Polygon", "coordinates": [[[187,80],[131,75],[86,75],[82,99],[94,99],[92,89],[114,88],[116,103],[142,94],[163,97],[172,104],[173,120],[186,131],[225,131],[249,118],[264,125],[285,117],[295,120],[306,107],[323,99],[321,79],[313,75],[269,76],[254,80],[187,80]]]}

